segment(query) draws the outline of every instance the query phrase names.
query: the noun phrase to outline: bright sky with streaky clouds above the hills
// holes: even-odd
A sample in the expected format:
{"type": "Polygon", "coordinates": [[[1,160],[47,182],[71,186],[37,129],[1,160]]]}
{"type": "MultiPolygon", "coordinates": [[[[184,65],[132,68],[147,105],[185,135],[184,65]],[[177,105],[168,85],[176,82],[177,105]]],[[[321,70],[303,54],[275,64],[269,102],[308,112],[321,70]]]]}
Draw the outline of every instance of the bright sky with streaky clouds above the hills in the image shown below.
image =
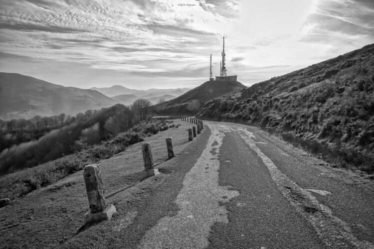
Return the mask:
{"type": "Polygon", "coordinates": [[[374,42],[374,0],[0,0],[0,72],[79,88],[246,86],[374,42]]]}

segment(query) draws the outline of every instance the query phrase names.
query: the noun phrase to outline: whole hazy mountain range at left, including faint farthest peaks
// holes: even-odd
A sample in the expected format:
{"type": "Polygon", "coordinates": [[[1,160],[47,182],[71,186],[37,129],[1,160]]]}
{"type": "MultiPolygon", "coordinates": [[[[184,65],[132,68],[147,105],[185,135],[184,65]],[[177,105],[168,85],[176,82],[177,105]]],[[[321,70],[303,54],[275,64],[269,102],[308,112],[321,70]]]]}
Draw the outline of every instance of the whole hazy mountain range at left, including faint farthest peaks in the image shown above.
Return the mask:
{"type": "Polygon", "coordinates": [[[144,98],[156,104],[174,99],[188,88],[136,90],[123,86],[80,89],[55,85],[30,76],[0,73],[0,119],[30,119],[34,116],[76,115],[121,103],[131,105],[144,98]],[[108,97],[112,96],[112,98],[108,97]]]}

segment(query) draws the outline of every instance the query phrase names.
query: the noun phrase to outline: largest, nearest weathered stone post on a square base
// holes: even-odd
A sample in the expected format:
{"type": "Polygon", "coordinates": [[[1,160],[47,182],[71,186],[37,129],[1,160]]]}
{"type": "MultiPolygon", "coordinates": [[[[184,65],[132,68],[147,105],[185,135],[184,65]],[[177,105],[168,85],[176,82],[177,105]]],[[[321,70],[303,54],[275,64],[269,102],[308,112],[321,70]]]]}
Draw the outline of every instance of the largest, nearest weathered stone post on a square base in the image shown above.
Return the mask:
{"type": "Polygon", "coordinates": [[[84,167],[84,183],[86,185],[90,211],[84,215],[85,223],[110,220],[116,213],[116,208],[109,205],[104,198],[104,186],[99,164],[89,164],[84,167]]]}

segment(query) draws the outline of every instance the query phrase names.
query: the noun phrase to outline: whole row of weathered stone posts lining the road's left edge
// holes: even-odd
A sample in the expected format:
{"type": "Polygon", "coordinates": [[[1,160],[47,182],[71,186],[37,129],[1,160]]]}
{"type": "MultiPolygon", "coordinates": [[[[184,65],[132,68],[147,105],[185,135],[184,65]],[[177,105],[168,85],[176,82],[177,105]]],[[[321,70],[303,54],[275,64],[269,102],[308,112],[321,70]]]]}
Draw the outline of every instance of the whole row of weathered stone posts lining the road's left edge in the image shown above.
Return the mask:
{"type": "MultiPolygon", "coordinates": [[[[201,120],[192,118],[181,118],[181,121],[196,124],[192,128],[188,129],[188,141],[192,141],[193,137],[201,133],[204,128],[201,120]]],[[[166,138],[166,147],[168,150],[168,158],[174,157],[172,138],[166,138]]],[[[150,143],[144,143],[142,145],[143,161],[145,169],[145,178],[160,174],[159,170],[154,167],[152,150],[150,143]]],[[[86,185],[88,203],[90,211],[84,215],[85,224],[110,220],[112,215],[116,213],[116,208],[113,204],[108,204],[104,198],[104,186],[101,178],[101,172],[99,164],[90,164],[84,167],[83,171],[84,183],[86,185]]]]}

